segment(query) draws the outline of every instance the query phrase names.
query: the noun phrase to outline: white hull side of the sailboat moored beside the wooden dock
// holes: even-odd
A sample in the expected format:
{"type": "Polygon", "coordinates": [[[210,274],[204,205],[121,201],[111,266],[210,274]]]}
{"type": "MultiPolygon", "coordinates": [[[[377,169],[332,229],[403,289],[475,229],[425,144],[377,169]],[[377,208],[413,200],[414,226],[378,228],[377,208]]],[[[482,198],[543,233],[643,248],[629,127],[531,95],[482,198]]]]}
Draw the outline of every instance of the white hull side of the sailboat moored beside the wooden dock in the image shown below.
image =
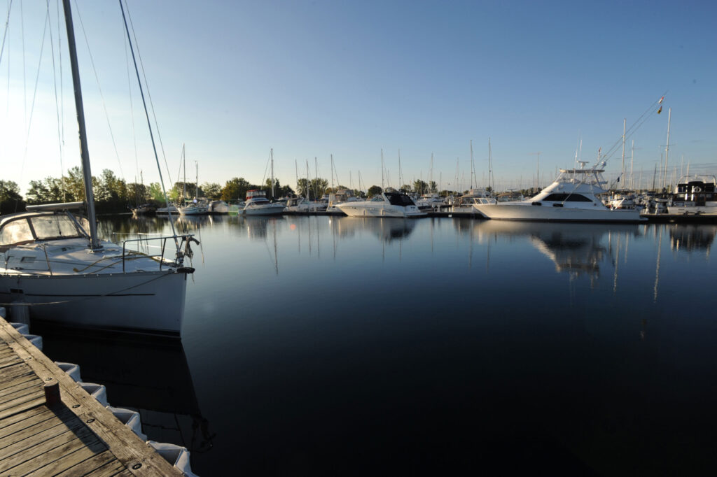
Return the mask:
{"type": "Polygon", "coordinates": [[[34,322],[179,337],[186,274],[2,275],[0,299],[29,304],[34,322]]]}

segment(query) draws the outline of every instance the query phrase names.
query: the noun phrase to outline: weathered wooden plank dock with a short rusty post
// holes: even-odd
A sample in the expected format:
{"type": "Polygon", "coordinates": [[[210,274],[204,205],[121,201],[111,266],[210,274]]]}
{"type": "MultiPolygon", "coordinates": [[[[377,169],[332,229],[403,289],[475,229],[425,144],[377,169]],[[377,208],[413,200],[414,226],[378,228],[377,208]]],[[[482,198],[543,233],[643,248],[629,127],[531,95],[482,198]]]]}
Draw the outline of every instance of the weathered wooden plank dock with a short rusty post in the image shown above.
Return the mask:
{"type": "Polygon", "coordinates": [[[181,475],[0,318],[0,477],[181,475]]]}

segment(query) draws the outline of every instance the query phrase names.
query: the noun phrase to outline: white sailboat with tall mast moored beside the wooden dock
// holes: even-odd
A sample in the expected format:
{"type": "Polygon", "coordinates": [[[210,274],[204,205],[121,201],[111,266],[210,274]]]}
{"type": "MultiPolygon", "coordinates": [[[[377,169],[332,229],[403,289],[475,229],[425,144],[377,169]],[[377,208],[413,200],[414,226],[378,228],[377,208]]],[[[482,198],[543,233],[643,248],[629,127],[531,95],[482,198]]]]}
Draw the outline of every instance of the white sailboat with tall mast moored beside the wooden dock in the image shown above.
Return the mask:
{"type": "MultiPolygon", "coordinates": [[[[100,241],[87,152],[82,90],[70,1],[63,1],[80,133],[87,218],[81,202],[29,206],[0,219],[0,300],[27,306],[29,317],[77,327],[179,336],[191,235],[157,237],[162,254],[132,251],[140,239],[100,241]],[[164,245],[176,245],[174,259],[164,245]]],[[[130,42],[131,47],[131,42],[130,42]]],[[[151,131],[150,131],[151,133],[151,131]]],[[[142,238],[141,241],[146,241],[142,238]]]]}

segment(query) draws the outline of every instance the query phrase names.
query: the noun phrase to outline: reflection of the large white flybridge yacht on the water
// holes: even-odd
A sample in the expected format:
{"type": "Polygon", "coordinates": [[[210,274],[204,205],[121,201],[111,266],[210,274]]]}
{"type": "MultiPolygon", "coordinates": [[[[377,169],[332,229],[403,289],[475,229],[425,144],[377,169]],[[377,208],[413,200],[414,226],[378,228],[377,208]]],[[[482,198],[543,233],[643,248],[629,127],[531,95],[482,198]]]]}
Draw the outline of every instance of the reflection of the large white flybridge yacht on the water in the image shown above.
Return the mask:
{"type": "MultiPolygon", "coordinates": [[[[478,241],[495,236],[526,237],[555,264],[559,273],[571,278],[586,275],[597,278],[602,264],[617,274],[619,254],[627,249],[630,236],[639,236],[637,224],[548,223],[480,221],[475,223],[478,241]]],[[[617,281],[617,276],[616,276],[617,281]]]]}

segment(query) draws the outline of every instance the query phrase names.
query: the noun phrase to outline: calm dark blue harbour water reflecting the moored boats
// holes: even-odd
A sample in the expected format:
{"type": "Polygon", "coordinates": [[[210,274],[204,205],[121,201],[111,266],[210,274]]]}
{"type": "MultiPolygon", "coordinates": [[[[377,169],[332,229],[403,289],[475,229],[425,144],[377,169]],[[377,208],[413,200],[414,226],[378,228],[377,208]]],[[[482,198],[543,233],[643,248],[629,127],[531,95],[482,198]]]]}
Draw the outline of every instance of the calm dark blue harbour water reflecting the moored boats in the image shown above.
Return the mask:
{"type": "Polygon", "coordinates": [[[178,224],[181,345],[44,339],[200,476],[717,469],[716,226],[178,224]]]}

